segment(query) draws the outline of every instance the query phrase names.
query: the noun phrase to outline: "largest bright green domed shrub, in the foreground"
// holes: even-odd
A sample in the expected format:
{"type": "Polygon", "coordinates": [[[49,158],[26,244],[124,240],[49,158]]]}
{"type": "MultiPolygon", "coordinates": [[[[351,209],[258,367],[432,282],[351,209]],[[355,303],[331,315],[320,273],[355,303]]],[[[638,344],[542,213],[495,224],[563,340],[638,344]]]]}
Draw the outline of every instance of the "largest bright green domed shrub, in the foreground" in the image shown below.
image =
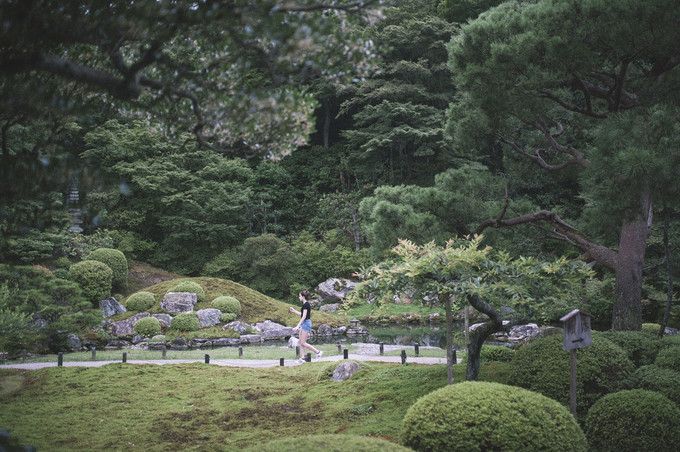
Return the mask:
{"type": "Polygon", "coordinates": [[[416,451],[586,451],[581,427],[557,401],[500,383],[468,381],[421,397],[400,443],[416,451]]]}

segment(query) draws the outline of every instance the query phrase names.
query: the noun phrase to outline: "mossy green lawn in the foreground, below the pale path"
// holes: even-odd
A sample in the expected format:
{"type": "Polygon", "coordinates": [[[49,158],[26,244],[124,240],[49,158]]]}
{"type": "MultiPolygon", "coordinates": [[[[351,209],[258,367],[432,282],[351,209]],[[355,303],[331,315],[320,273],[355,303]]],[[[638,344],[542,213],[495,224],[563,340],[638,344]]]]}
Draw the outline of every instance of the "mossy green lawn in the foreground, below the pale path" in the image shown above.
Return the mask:
{"type": "MultiPolygon", "coordinates": [[[[331,366],[0,369],[0,428],[49,451],[231,451],[317,433],[394,440],[406,410],[446,384],[443,365],[362,363],[345,382],[328,379],[331,366]]],[[[464,372],[454,366],[457,382],[464,372]]],[[[502,365],[482,367],[482,380],[504,376],[502,365]]]]}

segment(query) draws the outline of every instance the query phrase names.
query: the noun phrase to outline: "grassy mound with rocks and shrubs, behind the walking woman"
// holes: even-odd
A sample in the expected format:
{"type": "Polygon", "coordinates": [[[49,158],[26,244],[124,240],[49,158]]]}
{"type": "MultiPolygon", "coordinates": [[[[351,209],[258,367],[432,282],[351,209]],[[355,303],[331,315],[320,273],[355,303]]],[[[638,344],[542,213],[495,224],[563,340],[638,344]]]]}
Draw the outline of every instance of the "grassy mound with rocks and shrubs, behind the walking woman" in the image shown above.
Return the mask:
{"type": "MultiPolygon", "coordinates": [[[[199,309],[210,308],[210,302],[221,295],[229,295],[235,297],[241,302],[241,317],[247,323],[264,322],[271,320],[286,326],[295,326],[299,320],[298,317],[288,311],[290,304],[275,300],[271,297],[263,295],[262,293],[249,289],[246,286],[237,284],[233,281],[219,279],[219,278],[181,278],[168,281],[161,281],[149,287],[140,290],[151,292],[156,295],[156,305],[149,310],[152,314],[162,313],[161,301],[163,296],[181,281],[193,281],[198,283],[205,291],[206,301],[199,303],[194,308],[195,311],[199,309]]],[[[123,300],[125,304],[127,298],[123,300]]],[[[299,310],[299,306],[297,307],[299,310]]],[[[111,317],[112,320],[123,320],[135,314],[134,312],[126,312],[117,316],[111,317]]],[[[346,325],[348,319],[344,316],[331,315],[325,312],[314,311],[312,313],[312,322],[315,326],[327,324],[332,327],[346,325]]]]}

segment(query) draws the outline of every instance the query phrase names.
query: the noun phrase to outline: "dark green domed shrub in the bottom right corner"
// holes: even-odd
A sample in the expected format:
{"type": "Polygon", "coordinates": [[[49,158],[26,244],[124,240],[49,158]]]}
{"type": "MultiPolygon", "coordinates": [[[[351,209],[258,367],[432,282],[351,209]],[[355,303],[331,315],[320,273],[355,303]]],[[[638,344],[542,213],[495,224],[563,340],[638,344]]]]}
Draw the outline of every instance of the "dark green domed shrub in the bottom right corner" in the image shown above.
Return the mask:
{"type": "Polygon", "coordinates": [[[585,424],[596,451],[680,450],[680,409],[658,392],[608,394],[588,411],[585,424]]]}

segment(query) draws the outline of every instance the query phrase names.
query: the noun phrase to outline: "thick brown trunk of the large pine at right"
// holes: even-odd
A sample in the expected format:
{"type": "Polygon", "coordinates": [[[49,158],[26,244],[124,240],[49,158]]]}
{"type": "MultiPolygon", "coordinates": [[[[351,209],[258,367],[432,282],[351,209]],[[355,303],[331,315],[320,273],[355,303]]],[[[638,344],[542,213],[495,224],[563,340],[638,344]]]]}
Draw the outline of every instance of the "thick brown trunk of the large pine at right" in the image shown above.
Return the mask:
{"type": "Polygon", "coordinates": [[[616,331],[642,329],[642,270],[651,226],[651,199],[648,192],[641,198],[639,213],[625,220],[621,228],[614,268],[612,329],[616,331]]]}

